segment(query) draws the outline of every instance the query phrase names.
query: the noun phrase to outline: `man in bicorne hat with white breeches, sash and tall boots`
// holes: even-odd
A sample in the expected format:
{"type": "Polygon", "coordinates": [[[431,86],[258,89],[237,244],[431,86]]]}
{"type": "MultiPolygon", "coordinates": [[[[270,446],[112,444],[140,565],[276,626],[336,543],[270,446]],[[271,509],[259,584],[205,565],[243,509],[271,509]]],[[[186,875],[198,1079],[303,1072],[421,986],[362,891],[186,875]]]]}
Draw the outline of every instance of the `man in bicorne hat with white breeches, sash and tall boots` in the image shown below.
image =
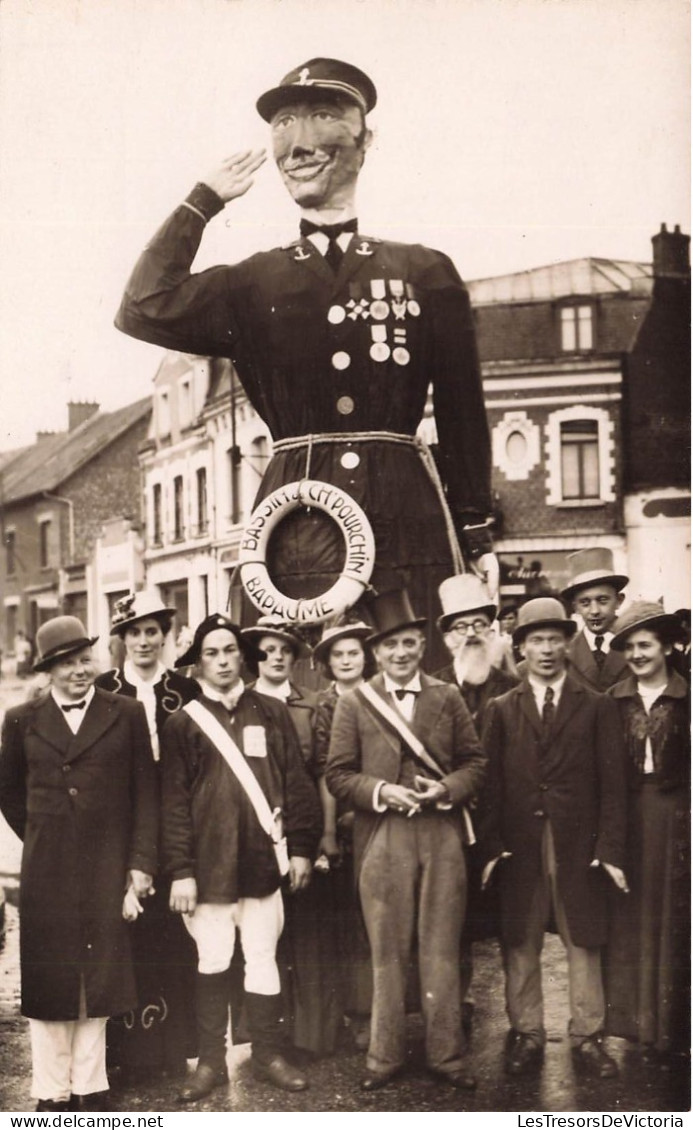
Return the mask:
{"type": "Polygon", "coordinates": [[[215,614],[202,620],[189,650],[176,660],[176,667],[196,664],[202,694],[172,714],[162,738],[163,863],[172,879],[170,906],[184,916],[198,949],[199,1060],[179,1095],[187,1103],[228,1080],[228,970],[236,928],[253,1070],[284,1090],[307,1086],[283,1054],[276,960],[284,925],[281,871],[257,802],[224,750],[231,746],[241,773],[250,768],[265,807],[283,820],[292,890],[310,880],[320,808],[286,707],[245,687],[243,659],[257,663],[265,654],[227,617],[215,614]]]}

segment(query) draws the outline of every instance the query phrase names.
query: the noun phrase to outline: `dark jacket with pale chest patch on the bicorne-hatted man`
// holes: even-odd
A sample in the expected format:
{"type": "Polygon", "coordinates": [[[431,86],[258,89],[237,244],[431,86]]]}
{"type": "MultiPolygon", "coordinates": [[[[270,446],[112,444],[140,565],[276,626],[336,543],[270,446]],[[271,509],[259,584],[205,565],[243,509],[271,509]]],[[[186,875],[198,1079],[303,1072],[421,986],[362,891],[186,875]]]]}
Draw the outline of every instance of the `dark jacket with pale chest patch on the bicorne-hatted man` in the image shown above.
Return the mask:
{"type": "MultiPolygon", "coordinates": [[[[283,703],[245,689],[229,714],[199,698],[231,733],[271,809],[280,808],[289,855],[311,858],[322,828],[315,786],[307,775],[283,703]]],[[[200,903],[262,898],[279,887],[271,841],[235,774],[197,722],[179,711],[162,739],[163,862],[172,879],[194,877],[200,903]]]]}

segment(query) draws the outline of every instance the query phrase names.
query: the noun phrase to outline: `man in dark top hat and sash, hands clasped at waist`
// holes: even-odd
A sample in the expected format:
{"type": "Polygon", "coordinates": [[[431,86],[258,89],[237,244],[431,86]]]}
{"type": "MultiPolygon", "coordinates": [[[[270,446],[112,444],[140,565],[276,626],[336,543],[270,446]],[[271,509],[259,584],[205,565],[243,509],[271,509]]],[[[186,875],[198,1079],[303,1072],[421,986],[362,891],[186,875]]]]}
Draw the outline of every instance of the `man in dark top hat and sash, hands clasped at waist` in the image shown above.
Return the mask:
{"type": "Polygon", "coordinates": [[[327,784],[354,809],[354,868],[373,962],[364,1090],[404,1066],[406,977],[418,938],[428,1067],[453,1087],[474,1077],[462,1055],[459,948],[467,877],[461,807],[485,758],[461,696],[421,671],[425,620],[404,591],[370,605],[380,673],[340,696],[327,784]]]}

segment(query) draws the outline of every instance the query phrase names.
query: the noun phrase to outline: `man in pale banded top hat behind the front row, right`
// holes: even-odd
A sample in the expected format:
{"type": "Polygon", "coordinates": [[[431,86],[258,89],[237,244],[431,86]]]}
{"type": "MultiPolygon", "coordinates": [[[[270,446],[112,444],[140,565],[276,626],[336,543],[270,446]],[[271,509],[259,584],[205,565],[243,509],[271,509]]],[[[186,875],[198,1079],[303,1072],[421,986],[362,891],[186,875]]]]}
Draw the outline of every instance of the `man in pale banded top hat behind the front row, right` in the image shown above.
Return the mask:
{"type": "Polygon", "coordinates": [[[569,566],[570,584],[561,596],[583,626],[569,646],[568,667],[583,686],[605,693],[629,673],[623,655],[610,646],[629,579],[614,572],[612,550],[600,547],[571,554],[569,566]]]}

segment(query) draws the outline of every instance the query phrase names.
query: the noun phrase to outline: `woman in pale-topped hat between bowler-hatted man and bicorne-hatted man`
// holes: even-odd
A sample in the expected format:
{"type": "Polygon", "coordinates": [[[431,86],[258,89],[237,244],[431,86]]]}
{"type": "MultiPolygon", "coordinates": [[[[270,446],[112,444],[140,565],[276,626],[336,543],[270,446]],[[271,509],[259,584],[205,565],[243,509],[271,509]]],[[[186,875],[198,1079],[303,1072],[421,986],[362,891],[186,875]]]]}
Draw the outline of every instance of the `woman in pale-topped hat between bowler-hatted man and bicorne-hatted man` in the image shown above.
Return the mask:
{"type": "MultiPolygon", "coordinates": [[[[194,679],[167,670],[162,662],[174,611],[153,592],[119,600],[111,635],[122,641],[124,660],[96,680],[105,690],[142,703],[157,771],[166,719],[200,693],[194,679]]],[[[182,1075],[187,1060],[197,1055],[197,955],[180,915],[168,910],[165,888],[162,878],[130,928],[139,1007],[109,1025],[109,1064],[120,1069],[122,1081],[182,1075]]]]}

